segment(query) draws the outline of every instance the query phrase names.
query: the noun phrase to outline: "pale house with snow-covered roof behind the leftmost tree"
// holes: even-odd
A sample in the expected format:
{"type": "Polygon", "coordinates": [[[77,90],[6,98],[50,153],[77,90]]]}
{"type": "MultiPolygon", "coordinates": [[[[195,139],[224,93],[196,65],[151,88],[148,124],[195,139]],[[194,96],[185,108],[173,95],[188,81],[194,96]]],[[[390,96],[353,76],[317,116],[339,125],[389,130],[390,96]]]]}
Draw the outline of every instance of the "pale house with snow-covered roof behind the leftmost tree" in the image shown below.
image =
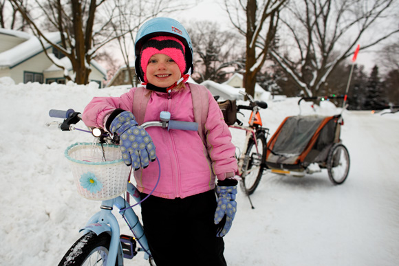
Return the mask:
{"type": "MultiPolygon", "coordinates": [[[[59,32],[50,32],[46,37],[59,43],[59,32]]],[[[57,82],[65,84],[64,71],[47,58],[43,47],[36,36],[16,30],[0,28],[0,77],[9,76],[16,83],[57,82]]],[[[72,63],[61,52],[54,49],[49,43],[45,43],[47,53],[56,60],[58,65],[64,65],[69,76],[74,76],[72,63]]],[[[99,87],[104,87],[103,82],[107,78],[107,71],[95,60],[91,60],[91,73],[89,80],[98,82],[99,87]]]]}

